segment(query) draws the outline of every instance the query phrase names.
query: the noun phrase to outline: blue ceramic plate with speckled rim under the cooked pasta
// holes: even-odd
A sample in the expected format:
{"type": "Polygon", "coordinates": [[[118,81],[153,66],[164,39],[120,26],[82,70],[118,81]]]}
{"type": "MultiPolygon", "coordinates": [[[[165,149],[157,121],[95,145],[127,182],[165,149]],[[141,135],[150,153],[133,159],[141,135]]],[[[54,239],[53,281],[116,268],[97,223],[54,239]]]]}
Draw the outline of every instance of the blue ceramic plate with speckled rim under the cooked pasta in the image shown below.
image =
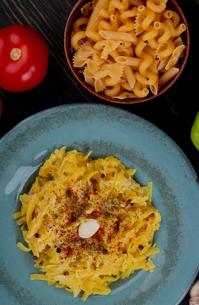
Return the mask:
{"type": "Polygon", "coordinates": [[[108,296],[91,296],[87,305],[176,305],[195,279],[199,263],[199,184],[189,160],[165,133],[135,114],[98,104],[64,105],[35,114],[0,141],[0,304],[82,305],[63,288],[31,281],[32,254],[12,214],[41,164],[55,148],[114,155],[135,179],[153,181],[153,204],[162,221],[155,234],[154,273],[137,271],[112,283],[108,296]]]}

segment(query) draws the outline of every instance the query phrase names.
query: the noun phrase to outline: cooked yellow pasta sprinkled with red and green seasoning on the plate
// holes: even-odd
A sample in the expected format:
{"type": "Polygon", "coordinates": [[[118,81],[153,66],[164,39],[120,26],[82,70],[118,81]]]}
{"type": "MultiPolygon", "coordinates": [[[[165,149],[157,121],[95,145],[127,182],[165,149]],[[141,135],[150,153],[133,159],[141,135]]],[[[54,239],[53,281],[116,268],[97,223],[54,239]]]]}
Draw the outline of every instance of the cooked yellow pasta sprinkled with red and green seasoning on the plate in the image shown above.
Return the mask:
{"type": "Polygon", "coordinates": [[[30,191],[20,195],[14,214],[35,267],[32,280],[64,287],[74,297],[83,291],[107,295],[110,283],[135,270],[154,271],[153,244],[161,217],[152,205],[152,182],[141,187],[119,159],[93,160],[91,152],[56,149],[40,168],[30,191]],[[82,238],[80,225],[98,221],[94,235],[82,238]]]}

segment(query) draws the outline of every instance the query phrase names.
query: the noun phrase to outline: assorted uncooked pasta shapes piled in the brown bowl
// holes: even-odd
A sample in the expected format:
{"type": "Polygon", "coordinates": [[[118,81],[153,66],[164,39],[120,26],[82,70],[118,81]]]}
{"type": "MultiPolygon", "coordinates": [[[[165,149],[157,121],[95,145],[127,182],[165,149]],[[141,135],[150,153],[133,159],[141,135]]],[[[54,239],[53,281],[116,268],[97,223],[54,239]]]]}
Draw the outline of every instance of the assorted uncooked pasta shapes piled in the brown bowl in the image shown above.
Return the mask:
{"type": "Polygon", "coordinates": [[[96,92],[118,99],[157,95],[179,73],[186,26],[166,3],[95,0],[84,5],[73,24],[73,64],[96,92]]]}

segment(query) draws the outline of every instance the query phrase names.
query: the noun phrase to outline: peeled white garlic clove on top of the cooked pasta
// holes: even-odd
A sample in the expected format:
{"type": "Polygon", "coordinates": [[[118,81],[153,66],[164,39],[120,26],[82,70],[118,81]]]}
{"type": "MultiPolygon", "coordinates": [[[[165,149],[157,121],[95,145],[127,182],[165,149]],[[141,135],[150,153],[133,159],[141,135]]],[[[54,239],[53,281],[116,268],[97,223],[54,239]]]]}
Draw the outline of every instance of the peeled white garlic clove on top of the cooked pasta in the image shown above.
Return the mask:
{"type": "Polygon", "coordinates": [[[78,234],[81,238],[89,238],[93,236],[99,228],[99,221],[97,219],[90,218],[88,221],[80,224],[78,234]]]}

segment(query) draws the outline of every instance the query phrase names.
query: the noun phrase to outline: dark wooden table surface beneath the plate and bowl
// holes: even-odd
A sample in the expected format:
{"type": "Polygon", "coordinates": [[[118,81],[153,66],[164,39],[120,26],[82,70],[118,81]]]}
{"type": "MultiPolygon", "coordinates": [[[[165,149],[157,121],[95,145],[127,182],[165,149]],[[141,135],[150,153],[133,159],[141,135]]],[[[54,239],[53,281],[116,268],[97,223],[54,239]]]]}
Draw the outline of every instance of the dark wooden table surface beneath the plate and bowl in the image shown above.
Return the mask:
{"type": "MultiPolygon", "coordinates": [[[[39,86],[22,93],[0,89],[3,102],[0,136],[29,115],[50,107],[76,102],[111,104],[144,117],[167,133],[190,160],[197,179],[199,151],[191,141],[190,132],[199,111],[199,0],[177,1],[189,24],[191,39],[189,58],[183,73],[166,94],[148,102],[121,105],[104,102],[89,94],[71,75],[65,58],[63,36],[66,21],[77,0],[0,0],[0,28],[12,24],[30,25],[44,35],[50,50],[48,71],[39,86]]],[[[180,305],[188,305],[188,301],[189,294],[180,305]]]]}

